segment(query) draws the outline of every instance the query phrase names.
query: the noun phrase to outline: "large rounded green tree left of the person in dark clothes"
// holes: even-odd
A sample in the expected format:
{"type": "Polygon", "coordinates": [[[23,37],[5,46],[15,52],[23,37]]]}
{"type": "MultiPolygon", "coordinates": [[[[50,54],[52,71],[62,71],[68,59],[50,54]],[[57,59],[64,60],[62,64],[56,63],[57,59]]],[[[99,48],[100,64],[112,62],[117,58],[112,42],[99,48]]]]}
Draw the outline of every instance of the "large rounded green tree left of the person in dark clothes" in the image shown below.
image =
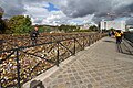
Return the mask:
{"type": "Polygon", "coordinates": [[[31,29],[31,19],[27,15],[14,15],[9,20],[9,28],[12,33],[28,33],[31,29]]]}

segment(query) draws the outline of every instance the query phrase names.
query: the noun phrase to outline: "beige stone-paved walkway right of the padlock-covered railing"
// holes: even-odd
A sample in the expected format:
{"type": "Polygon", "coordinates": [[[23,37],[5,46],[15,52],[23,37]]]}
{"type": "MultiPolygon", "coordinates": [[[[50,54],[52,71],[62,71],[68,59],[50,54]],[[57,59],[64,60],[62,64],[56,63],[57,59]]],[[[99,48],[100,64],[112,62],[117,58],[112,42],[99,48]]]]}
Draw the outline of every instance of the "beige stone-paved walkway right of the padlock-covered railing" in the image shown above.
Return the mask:
{"type": "Polygon", "coordinates": [[[133,88],[133,56],[104,37],[74,56],[43,84],[47,88],[133,88]]]}

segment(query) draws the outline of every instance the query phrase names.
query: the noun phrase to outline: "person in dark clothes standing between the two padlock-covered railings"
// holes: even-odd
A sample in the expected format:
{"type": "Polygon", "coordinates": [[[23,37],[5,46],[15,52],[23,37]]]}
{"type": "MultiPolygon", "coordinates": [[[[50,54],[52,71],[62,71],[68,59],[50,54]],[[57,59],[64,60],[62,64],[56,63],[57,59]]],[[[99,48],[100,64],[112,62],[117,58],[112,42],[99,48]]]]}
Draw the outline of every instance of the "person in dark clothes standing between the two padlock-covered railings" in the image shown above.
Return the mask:
{"type": "Polygon", "coordinates": [[[37,44],[38,35],[39,35],[39,29],[38,29],[38,26],[34,26],[34,30],[31,31],[31,33],[30,33],[30,37],[31,37],[33,45],[37,44]]]}

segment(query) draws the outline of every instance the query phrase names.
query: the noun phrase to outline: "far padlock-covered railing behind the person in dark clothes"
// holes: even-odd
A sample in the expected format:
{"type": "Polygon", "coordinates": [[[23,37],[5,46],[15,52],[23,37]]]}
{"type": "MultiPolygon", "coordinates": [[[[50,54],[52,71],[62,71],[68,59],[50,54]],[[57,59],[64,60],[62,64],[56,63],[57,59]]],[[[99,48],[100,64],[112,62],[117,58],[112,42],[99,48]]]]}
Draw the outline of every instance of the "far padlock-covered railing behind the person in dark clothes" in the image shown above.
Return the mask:
{"type": "MultiPolygon", "coordinates": [[[[93,33],[54,33],[54,34],[42,33],[38,37],[38,44],[53,42],[58,40],[61,41],[72,37],[79,37],[89,34],[93,34],[93,33]]],[[[0,43],[2,43],[1,50],[11,50],[11,48],[16,48],[17,46],[20,47],[20,46],[32,45],[29,35],[0,35],[0,43]]]]}

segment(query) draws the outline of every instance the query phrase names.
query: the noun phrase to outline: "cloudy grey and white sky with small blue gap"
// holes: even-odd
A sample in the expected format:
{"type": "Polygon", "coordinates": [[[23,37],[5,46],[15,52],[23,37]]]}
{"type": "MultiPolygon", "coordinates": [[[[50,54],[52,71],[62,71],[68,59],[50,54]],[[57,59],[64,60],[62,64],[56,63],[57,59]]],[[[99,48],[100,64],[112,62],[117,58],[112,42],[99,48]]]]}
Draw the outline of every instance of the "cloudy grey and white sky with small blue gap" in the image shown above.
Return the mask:
{"type": "Polygon", "coordinates": [[[33,24],[83,24],[125,20],[133,24],[133,0],[0,0],[4,18],[30,15],[33,24]]]}

